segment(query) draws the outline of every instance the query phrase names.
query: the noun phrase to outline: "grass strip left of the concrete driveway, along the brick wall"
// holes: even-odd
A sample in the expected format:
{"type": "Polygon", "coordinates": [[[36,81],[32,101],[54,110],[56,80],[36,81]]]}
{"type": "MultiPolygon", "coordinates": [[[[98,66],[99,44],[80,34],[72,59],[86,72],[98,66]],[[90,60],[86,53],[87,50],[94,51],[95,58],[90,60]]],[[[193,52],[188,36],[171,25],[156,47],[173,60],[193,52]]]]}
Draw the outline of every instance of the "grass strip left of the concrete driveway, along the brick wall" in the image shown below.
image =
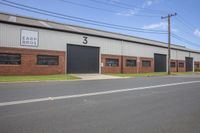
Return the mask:
{"type": "Polygon", "coordinates": [[[75,80],[78,77],[72,75],[37,75],[37,76],[0,76],[0,82],[23,82],[23,81],[49,81],[49,80],[75,80]]]}

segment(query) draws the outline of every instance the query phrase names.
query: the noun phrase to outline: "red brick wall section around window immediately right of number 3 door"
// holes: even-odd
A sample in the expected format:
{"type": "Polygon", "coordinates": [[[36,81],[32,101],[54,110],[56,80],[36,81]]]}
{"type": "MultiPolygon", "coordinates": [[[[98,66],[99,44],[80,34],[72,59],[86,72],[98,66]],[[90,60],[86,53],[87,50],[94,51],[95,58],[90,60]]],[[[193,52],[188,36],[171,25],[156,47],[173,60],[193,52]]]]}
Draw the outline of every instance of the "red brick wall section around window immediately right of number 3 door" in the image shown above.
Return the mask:
{"type": "Polygon", "coordinates": [[[121,64],[122,64],[121,58],[122,58],[121,56],[117,56],[117,55],[102,54],[101,63],[103,63],[103,66],[101,67],[101,73],[121,73],[121,64]],[[118,59],[119,66],[118,67],[106,66],[106,58],[118,59]]]}

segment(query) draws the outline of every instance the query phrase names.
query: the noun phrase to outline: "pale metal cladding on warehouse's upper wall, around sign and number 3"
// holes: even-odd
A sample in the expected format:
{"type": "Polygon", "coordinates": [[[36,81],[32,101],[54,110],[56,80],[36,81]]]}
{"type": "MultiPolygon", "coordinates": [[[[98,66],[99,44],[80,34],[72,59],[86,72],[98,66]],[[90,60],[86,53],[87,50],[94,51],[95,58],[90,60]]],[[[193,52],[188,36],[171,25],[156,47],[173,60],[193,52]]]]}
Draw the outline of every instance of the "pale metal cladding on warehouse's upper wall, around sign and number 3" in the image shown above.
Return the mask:
{"type": "MultiPolygon", "coordinates": [[[[100,47],[101,54],[153,58],[154,53],[166,55],[168,53],[167,48],[94,36],[87,36],[88,44],[83,44],[83,36],[84,35],[0,23],[0,46],[2,47],[65,51],[66,44],[68,43],[100,47]],[[20,46],[20,34],[22,29],[39,32],[38,47],[20,46]]],[[[172,59],[185,60],[185,57],[193,57],[194,61],[200,61],[200,54],[180,50],[171,51],[172,59]]]]}

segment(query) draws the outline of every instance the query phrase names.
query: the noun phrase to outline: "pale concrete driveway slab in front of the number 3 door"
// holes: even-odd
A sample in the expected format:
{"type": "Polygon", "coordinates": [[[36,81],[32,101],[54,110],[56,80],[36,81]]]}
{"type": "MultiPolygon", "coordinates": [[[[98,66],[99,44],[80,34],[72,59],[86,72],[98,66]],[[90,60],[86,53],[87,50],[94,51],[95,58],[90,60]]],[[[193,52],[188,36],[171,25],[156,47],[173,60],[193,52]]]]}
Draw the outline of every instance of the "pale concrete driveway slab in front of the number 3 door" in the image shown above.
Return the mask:
{"type": "Polygon", "coordinates": [[[101,79],[119,79],[122,77],[105,75],[105,74],[72,74],[82,80],[101,80],[101,79]]]}

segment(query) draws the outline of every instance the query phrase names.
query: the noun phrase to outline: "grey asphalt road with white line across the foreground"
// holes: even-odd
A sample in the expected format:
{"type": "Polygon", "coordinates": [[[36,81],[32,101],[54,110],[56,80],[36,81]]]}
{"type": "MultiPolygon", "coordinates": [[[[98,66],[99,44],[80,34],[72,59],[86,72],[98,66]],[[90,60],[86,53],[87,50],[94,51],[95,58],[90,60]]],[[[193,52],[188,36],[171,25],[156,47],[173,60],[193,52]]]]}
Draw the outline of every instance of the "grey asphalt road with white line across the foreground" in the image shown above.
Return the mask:
{"type": "Polygon", "coordinates": [[[0,84],[0,105],[9,102],[0,133],[200,133],[196,75],[0,84]]]}

